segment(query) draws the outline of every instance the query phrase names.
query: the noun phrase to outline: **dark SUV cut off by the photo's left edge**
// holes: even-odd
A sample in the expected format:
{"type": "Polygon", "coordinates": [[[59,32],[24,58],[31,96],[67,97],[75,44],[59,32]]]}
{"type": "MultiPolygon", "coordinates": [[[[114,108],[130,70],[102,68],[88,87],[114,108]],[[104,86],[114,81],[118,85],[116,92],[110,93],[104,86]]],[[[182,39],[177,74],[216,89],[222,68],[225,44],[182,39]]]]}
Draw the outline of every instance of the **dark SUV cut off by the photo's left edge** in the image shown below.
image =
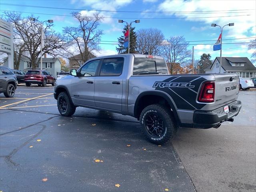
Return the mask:
{"type": "Polygon", "coordinates": [[[8,67],[0,66],[0,93],[6,97],[13,97],[18,81],[15,74],[8,67]]]}

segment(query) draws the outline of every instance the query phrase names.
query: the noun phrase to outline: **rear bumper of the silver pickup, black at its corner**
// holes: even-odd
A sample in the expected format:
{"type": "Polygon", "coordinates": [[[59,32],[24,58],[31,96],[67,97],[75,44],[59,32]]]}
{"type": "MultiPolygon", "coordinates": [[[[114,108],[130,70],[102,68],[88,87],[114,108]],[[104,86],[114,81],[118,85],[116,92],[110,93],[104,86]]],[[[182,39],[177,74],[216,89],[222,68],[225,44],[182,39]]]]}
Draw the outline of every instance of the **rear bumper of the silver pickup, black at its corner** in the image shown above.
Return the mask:
{"type": "Polygon", "coordinates": [[[234,101],[228,104],[229,112],[225,113],[223,106],[212,111],[195,111],[193,116],[194,128],[218,127],[222,122],[237,116],[242,108],[241,101],[234,101]]]}

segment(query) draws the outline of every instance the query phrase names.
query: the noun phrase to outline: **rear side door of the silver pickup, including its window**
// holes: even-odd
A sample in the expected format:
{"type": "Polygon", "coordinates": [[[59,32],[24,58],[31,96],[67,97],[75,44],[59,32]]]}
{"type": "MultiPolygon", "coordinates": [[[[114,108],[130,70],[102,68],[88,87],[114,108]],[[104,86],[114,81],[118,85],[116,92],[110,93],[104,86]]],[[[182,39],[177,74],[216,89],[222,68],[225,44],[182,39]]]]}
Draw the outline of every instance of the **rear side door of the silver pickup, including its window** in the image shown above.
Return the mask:
{"type": "Polygon", "coordinates": [[[96,107],[122,110],[124,58],[114,57],[102,60],[95,77],[94,100],[96,107]]]}

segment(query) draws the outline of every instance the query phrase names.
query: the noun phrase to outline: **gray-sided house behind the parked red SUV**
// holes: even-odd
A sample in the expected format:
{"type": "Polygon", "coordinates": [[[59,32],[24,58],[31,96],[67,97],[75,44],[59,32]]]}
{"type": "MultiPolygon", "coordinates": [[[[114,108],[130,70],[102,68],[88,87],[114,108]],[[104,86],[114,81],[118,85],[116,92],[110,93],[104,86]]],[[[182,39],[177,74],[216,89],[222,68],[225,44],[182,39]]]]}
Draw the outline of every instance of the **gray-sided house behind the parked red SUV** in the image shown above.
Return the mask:
{"type": "MultiPolygon", "coordinates": [[[[37,59],[37,68],[36,70],[40,70],[40,58],[37,59]]],[[[8,60],[5,60],[4,66],[8,66],[8,60]]],[[[61,62],[59,58],[42,58],[42,69],[49,71],[55,78],[57,78],[57,74],[61,70],[61,62]]],[[[19,70],[27,72],[28,70],[32,70],[32,65],[30,58],[22,56],[20,60],[19,70]]]]}

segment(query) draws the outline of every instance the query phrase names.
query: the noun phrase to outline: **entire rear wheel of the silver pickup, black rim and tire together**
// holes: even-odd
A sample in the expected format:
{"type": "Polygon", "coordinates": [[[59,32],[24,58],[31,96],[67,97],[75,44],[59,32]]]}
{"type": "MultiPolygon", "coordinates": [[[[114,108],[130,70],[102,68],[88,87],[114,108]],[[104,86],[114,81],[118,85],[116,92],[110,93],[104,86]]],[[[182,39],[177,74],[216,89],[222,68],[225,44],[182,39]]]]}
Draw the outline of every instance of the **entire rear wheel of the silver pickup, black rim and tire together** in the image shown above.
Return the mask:
{"type": "Polygon", "coordinates": [[[152,104],[140,114],[141,131],[154,144],[164,144],[174,138],[178,126],[170,108],[152,104]]]}

